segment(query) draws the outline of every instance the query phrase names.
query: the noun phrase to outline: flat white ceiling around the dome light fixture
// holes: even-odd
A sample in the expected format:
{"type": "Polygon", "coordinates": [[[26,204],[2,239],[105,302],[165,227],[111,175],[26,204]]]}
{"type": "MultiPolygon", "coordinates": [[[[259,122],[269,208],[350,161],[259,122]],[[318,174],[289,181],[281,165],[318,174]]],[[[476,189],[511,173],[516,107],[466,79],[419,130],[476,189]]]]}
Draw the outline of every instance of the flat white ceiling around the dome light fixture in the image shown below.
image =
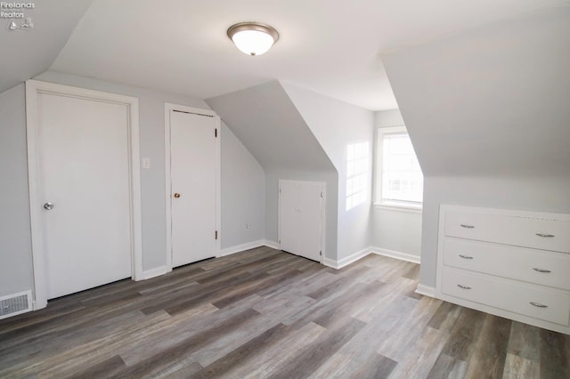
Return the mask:
{"type": "Polygon", "coordinates": [[[366,109],[397,108],[379,53],[564,0],[94,0],[52,70],[208,99],[272,79],[366,109]],[[225,35],[265,22],[265,55],[225,35]]]}

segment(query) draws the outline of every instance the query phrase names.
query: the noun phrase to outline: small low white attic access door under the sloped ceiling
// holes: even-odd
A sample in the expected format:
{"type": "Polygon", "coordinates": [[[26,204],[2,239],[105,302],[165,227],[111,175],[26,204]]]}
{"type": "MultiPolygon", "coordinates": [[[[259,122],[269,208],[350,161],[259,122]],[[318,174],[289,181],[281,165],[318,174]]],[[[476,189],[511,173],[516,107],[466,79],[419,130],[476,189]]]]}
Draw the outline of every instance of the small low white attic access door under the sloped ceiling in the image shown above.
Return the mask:
{"type": "Polygon", "coordinates": [[[281,250],[322,262],[325,189],[320,181],[279,181],[281,250]]]}

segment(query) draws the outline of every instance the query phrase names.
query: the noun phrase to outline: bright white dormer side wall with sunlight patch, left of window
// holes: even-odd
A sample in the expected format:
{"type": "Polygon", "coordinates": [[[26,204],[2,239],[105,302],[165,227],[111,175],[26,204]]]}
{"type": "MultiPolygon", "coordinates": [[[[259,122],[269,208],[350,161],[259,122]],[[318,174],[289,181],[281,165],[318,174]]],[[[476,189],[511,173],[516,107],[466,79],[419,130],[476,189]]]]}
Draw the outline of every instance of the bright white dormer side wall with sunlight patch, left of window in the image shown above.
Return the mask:
{"type": "Polygon", "coordinates": [[[341,261],[371,244],[373,113],[296,85],[281,85],[338,171],[338,254],[330,258],[341,261]],[[346,210],[346,149],[362,142],[370,150],[366,201],[346,210]]]}

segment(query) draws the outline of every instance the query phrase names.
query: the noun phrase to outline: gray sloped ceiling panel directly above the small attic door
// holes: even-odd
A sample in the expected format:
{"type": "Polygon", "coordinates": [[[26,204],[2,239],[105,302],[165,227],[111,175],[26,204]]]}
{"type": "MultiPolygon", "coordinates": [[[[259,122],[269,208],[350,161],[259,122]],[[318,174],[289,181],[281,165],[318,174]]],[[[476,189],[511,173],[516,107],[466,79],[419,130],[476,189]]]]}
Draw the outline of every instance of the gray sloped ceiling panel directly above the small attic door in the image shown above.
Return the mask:
{"type": "Polygon", "coordinates": [[[206,102],[265,170],[334,170],[278,81],[206,102]]]}

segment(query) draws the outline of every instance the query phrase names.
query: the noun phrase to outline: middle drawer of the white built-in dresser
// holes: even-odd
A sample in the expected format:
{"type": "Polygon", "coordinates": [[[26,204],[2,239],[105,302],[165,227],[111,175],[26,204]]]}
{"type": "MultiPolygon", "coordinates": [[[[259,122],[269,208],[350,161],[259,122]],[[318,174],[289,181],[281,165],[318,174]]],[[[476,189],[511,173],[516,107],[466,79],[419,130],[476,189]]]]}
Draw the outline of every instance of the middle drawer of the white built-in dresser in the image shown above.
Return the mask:
{"type": "Polygon", "coordinates": [[[570,290],[570,254],[447,237],[444,265],[570,290]]]}

